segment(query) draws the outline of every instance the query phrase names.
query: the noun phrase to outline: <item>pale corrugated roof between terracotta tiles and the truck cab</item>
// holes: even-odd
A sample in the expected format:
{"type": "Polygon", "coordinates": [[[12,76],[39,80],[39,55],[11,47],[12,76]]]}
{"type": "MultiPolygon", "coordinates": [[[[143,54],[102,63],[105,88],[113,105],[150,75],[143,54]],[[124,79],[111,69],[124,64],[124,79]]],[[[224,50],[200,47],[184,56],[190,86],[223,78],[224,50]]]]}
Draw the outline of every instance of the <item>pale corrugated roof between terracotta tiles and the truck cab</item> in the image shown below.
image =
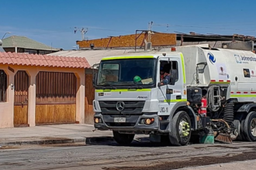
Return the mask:
{"type": "Polygon", "coordinates": [[[99,63],[100,60],[105,56],[117,56],[125,53],[132,53],[134,49],[99,49],[99,50],[70,50],[70,51],[59,51],[56,53],[50,53],[47,55],[54,56],[78,56],[84,57],[90,66],[93,66],[95,63],[99,63]]]}

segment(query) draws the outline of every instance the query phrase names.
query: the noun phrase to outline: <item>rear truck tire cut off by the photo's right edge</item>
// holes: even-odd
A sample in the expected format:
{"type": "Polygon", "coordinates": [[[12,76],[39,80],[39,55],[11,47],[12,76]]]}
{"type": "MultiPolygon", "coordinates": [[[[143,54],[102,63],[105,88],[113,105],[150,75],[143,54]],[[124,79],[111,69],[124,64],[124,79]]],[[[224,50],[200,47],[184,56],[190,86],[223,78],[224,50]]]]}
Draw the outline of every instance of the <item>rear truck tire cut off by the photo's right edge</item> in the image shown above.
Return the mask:
{"type": "Polygon", "coordinates": [[[241,124],[241,128],[243,131],[243,136],[245,141],[256,141],[256,133],[252,134],[251,132],[251,125],[253,128],[256,128],[256,112],[251,111],[246,119],[241,124]]]}

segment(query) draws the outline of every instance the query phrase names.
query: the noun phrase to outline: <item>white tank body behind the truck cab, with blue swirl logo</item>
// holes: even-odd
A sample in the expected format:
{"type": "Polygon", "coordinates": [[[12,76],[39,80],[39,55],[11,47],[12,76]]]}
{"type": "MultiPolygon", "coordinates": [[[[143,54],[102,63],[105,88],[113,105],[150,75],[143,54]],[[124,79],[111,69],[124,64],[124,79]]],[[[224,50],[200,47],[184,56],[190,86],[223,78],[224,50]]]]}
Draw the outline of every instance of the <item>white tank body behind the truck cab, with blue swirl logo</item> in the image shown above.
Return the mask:
{"type": "MultiPolygon", "coordinates": [[[[216,83],[229,87],[228,98],[237,98],[239,102],[256,102],[255,53],[236,49],[209,49],[208,44],[178,46],[176,51],[183,53],[188,87],[209,87],[216,83]],[[203,73],[199,73],[199,83],[196,83],[198,63],[207,65],[203,73]]],[[[200,65],[199,69],[203,66],[200,65]]]]}

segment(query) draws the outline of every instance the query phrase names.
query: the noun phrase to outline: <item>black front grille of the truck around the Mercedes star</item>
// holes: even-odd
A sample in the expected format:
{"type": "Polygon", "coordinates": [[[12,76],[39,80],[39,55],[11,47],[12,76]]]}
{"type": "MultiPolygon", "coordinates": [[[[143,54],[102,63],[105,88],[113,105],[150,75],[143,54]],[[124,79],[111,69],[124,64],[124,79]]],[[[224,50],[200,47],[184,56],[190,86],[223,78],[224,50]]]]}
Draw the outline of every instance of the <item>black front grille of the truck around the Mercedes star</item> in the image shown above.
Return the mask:
{"type": "Polygon", "coordinates": [[[116,110],[116,103],[118,101],[99,101],[103,115],[140,115],[144,108],[145,101],[123,101],[124,109],[122,111],[116,110]]]}

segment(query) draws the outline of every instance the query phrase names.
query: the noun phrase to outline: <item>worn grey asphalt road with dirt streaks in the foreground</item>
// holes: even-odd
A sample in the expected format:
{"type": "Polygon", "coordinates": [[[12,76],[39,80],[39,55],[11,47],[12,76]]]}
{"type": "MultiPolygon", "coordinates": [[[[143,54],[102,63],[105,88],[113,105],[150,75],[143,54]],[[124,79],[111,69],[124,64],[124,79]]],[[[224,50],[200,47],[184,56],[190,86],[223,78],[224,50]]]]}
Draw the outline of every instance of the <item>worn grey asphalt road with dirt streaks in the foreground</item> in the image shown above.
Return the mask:
{"type": "Polygon", "coordinates": [[[109,142],[97,145],[33,145],[0,149],[0,169],[165,170],[195,169],[192,167],[201,166],[202,169],[212,167],[216,170],[218,167],[243,169],[244,165],[250,169],[250,166],[256,165],[255,160],[256,143],[245,142],[172,147],[135,141],[129,147],[109,142]]]}

